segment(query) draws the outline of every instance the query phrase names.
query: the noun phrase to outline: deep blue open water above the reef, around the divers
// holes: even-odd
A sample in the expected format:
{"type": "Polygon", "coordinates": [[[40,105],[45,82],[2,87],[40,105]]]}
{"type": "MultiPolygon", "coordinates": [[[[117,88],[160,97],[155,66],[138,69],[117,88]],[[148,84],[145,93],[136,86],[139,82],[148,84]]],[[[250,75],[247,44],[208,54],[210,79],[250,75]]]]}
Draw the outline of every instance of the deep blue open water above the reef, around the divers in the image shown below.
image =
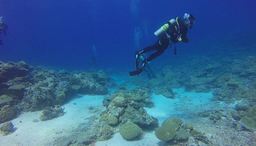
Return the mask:
{"type": "Polygon", "coordinates": [[[153,45],[154,32],[184,13],[196,18],[189,43],[177,44],[176,57],[174,47],[168,48],[153,66],[178,64],[189,54],[225,57],[234,47],[255,43],[255,5],[250,0],[1,0],[0,16],[8,30],[0,36],[0,60],[128,72],[134,69],[134,52],[153,45]],[[97,64],[92,63],[95,54],[97,64]]]}

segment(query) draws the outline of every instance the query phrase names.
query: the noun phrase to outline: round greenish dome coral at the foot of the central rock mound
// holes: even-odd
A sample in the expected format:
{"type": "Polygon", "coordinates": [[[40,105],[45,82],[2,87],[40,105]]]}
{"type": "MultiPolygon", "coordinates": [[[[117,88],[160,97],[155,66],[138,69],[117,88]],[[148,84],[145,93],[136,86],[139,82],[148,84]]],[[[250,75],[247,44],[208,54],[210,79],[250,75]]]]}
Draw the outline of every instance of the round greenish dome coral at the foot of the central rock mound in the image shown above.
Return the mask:
{"type": "Polygon", "coordinates": [[[128,121],[119,128],[119,132],[124,139],[132,139],[140,134],[140,127],[128,121]]]}

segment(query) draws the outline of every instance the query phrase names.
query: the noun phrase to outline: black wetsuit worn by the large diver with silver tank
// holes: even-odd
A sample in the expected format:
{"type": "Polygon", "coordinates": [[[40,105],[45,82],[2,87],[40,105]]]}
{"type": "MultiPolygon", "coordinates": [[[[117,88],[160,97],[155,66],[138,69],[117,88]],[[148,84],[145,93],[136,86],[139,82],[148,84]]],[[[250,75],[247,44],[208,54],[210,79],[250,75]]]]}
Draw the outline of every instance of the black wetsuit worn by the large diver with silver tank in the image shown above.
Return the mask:
{"type": "MultiPolygon", "coordinates": [[[[177,22],[170,26],[167,30],[166,33],[170,36],[170,39],[173,43],[178,42],[178,35],[181,36],[182,42],[188,43],[188,38],[187,38],[187,32],[188,32],[188,27],[186,26],[185,22],[178,18],[178,24],[177,22]],[[180,26],[180,29],[178,29],[178,24],[180,26]],[[180,30],[180,33],[179,33],[180,30]]],[[[144,48],[140,53],[146,53],[148,51],[153,51],[157,50],[155,53],[151,54],[146,61],[151,61],[158,57],[159,55],[163,54],[163,52],[167,49],[169,46],[169,38],[167,37],[166,33],[163,33],[157,42],[155,42],[154,45],[152,46],[147,46],[144,48]]]]}

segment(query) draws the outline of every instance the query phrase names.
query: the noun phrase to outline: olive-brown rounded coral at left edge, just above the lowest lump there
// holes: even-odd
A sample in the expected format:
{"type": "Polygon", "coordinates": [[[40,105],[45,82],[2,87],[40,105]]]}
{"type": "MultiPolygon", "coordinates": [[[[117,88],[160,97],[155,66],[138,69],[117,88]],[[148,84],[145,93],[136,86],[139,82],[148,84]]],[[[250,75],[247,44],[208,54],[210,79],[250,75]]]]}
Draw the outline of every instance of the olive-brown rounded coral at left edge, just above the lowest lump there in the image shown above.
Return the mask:
{"type": "Polygon", "coordinates": [[[15,110],[10,105],[4,105],[3,108],[1,108],[0,111],[0,123],[5,122],[6,120],[10,119],[12,116],[14,116],[15,110]]]}

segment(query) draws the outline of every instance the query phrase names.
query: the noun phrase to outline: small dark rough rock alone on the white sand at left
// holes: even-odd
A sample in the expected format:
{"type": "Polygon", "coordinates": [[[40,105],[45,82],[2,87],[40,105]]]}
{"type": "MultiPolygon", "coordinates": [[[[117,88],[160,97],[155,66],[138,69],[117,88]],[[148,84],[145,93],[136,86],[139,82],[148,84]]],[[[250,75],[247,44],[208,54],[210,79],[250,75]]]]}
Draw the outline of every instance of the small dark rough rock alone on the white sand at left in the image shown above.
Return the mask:
{"type": "Polygon", "coordinates": [[[54,107],[46,107],[44,111],[42,111],[42,115],[39,117],[39,119],[41,121],[46,121],[63,116],[64,109],[65,108],[61,108],[60,105],[55,105],[54,107]]]}

